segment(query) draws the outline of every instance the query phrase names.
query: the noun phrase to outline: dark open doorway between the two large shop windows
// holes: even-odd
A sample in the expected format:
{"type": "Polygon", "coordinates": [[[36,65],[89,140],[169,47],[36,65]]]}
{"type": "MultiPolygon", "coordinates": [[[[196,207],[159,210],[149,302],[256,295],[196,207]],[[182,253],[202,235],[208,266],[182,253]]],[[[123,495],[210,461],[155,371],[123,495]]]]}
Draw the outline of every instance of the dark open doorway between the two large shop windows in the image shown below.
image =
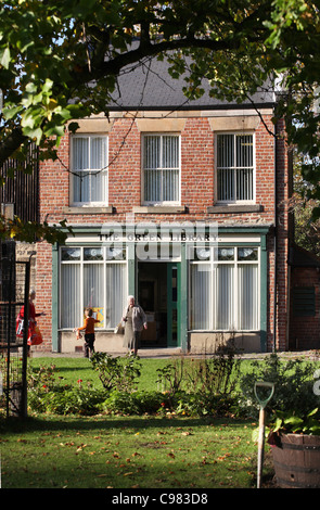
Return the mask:
{"type": "Polygon", "coordinates": [[[146,314],[141,347],[180,345],[180,263],[139,262],[138,302],[146,314]]]}

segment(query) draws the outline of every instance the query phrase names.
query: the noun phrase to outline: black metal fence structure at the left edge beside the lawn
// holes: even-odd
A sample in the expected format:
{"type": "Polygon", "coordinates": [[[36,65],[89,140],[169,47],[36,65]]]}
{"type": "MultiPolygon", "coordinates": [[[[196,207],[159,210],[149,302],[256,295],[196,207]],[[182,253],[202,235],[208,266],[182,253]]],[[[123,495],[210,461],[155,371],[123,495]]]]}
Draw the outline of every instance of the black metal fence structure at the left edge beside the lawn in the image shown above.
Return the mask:
{"type": "Polygon", "coordinates": [[[27,416],[27,336],[30,259],[15,260],[15,243],[0,244],[0,412],[27,416]],[[20,311],[24,307],[24,319],[20,311]]]}

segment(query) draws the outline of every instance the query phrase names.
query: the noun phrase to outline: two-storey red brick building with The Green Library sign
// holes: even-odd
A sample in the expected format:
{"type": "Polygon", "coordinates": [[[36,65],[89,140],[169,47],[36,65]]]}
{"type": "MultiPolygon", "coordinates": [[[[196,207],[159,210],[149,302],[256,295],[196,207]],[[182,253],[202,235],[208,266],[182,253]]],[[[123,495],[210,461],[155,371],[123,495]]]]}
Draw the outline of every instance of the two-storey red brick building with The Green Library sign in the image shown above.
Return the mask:
{"type": "MultiPolygon", "coordinates": [[[[59,160],[40,166],[40,218],[73,226],[64,246],[38,243],[39,347],[75,352],[91,306],[97,349],[121,352],[127,296],[148,314],[142,346],[245,352],[289,346],[290,190],[277,98],[185,101],[154,61],[125,73],[110,116],[80,120],[59,160]]],[[[208,88],[207,88],[208,89],[208,88]]]]}

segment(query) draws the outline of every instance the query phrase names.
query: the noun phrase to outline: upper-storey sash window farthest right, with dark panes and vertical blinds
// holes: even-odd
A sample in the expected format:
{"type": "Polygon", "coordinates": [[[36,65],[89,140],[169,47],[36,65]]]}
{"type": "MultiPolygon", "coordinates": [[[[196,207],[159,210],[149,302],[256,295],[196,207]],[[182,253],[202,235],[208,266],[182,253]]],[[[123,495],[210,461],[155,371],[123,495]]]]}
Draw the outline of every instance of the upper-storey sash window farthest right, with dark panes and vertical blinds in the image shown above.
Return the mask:
{"type": "Polygon", "coordinates": [[[254,135],[217,135],[216,146],[217,202],[254,202],[254,135]]]}

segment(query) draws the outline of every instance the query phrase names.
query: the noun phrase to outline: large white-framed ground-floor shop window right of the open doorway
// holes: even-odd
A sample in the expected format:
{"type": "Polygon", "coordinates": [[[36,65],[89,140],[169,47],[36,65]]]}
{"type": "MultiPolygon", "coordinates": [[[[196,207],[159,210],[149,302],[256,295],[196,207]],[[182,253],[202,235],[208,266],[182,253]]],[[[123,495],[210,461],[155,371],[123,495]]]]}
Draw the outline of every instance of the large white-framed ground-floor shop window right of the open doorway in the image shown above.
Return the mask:
{"type": "Polygon", "coordinates": [[[190,263],[190,328],[259,330],[258,247],[212,247],[190,263]]]}

